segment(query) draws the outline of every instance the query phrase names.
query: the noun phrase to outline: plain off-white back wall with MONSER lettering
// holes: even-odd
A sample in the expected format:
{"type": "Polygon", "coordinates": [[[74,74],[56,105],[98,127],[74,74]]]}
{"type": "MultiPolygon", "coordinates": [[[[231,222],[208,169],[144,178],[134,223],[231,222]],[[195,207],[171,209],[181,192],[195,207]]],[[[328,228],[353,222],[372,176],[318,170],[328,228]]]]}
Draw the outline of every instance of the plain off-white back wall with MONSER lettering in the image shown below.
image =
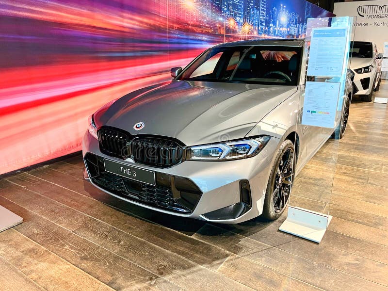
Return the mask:
{"type": "Polygon", "coordinates": [[[355,40],[372,41],[379,52],[388,42],[388,0],[334,3],[337,16],[357,16],[355,40]]]}

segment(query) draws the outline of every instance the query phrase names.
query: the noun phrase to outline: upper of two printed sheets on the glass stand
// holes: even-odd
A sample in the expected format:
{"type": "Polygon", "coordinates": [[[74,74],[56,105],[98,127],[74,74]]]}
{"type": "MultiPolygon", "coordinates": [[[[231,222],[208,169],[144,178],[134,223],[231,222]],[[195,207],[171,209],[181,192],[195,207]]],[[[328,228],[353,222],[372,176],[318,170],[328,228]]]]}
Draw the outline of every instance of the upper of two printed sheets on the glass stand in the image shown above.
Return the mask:
{"type": "Polygon", "coordinates": [[[308,76],[341,77],[347,42],[347,27],[318,27],[311,32],[308,76]]]}

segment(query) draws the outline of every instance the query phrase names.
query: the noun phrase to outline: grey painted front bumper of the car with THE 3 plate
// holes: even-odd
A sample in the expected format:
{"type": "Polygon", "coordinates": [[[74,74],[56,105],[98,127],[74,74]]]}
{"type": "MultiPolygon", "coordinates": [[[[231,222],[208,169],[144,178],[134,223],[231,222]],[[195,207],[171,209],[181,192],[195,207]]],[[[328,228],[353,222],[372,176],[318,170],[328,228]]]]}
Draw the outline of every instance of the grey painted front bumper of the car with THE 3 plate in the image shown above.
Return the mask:
{"type": "MultiPolygon", "coordinates": [[[[89,179],[94,186],[108,194],[132,204],[163,213],[217,223],[235,224],[257,217],[262,213],[268,178],[279,142],[279,139],[272,137],[257,156],[248,159],[227,162],[185,161],[171,168],[161,169],[136,164],[130,158],[123,161],[101,153],[97,139],[87,131],[83,137],[82,155],[84,159],[89,153],[96,155],[97,157],[116,162],[124,162],[128,165],[140,167],[163,175],[167,174],[173,177],[187,178],[192,181],[201,192],[199,200],[196,202],[194,209],[191,210],[190,213],[179,213],[179,211],[153,207],[140,200],[118,195],[116,192],[113,193],[113,191],[99,187],[97,183],[93,181],[93,178],[89,179]],[[225,211],[222,211],[223,209],[233,209],[234,211],[241,207],[241,181],[243,180],[249,182],[251,205],[249,208],[242,211],[242,214],[238,217],[230,218],[227,215],[223,216],[223,213],[225,213],[225,211]],[[217,213],[219,213],[218,217],[217,213]]],[[[120,179],[120,176],[117,176],[117,178],[120,179]]]]}

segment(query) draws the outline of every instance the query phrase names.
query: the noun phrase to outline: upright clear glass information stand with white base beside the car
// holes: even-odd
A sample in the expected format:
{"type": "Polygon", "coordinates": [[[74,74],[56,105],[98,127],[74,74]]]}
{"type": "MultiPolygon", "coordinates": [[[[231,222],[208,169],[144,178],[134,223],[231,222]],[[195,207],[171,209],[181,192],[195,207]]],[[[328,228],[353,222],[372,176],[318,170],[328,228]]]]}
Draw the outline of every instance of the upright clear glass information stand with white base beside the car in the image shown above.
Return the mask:
{"type": "Polygon", "coordinates": [[[321,148],[322,153],[316,156],[308,143],[299,149],[309,159],[315,159],[307,165],[304,165],[306,161],[297,161],[287,219],[279,230],[318,243],[332,218],[329,215],[330,198],[339,138],[343,135],[352,96],[347,68],[354,21],[355,17],[348,16],[310,18],[307,21],[302,61],[306,64],[306,71],[302,72],[304,84],[299,98],[302,109],[296,138],[303,138],[305,144],[308,141],[311,148],[321,148]],[[327,142],[330,136],[333,140],[327,142]],[[330,150],[324,151],[326,148],[330,150]],[[295,188],[297,193],[294,193],[295,188]]]}

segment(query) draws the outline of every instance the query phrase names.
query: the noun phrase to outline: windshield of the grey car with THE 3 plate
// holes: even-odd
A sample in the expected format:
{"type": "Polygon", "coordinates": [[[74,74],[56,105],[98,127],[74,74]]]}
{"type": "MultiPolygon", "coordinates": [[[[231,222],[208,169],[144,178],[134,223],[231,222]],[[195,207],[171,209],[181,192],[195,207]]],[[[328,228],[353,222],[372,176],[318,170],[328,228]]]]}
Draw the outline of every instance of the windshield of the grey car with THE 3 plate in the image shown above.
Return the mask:
{"type": "Polygon", "coordinates": [[[295,85],[301,51],[283,46],[212,48],[185,68],[178,80],[295,85]]]}

